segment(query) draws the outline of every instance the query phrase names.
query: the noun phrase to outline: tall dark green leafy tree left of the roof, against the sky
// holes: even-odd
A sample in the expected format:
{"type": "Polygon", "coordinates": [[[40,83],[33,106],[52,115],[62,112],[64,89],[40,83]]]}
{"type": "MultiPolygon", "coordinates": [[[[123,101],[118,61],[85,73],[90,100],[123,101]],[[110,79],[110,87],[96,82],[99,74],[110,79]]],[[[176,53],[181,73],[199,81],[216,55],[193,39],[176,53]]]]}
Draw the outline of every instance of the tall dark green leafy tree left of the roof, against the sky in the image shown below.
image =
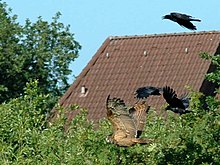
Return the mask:
{"type": "Polygon", "coordinates": [[[42,93],[60,96],[69,86],[70,62],[81,48],[69,26],[41,17],[35,23],[16,23],[17,16],[0,1],[0,103],[23,94],[29,80],[37,79],[42,93]]]}

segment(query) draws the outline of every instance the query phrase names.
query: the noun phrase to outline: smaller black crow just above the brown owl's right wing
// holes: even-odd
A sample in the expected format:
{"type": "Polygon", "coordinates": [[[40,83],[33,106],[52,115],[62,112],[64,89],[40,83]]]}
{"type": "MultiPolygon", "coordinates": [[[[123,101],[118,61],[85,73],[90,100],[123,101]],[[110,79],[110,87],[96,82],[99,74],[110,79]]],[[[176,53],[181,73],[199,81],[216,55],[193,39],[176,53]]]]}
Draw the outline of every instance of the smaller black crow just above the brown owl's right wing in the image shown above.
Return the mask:
{"type": "Polygon", "coordinates": [[[162,88],[147,86],[138,88],[135,95],[137,99],[146,99],[150,95],[161,95],[160,92],[162,92],[162,88]]]}

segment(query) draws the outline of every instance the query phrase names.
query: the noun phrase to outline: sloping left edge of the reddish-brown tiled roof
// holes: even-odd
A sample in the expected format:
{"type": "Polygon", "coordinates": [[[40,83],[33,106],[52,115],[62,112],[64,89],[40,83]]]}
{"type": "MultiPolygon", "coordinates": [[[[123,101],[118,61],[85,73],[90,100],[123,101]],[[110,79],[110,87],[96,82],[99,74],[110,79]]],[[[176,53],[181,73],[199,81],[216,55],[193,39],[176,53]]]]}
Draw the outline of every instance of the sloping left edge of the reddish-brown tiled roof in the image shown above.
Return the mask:
{"type": "Polygon", "coordinates": [[[95,55],[92,57],[92,59],[89,61],[89,63],[86,65],[86,67],[84,67],[84,69],[82,70],[82,72],[77,76],[76,80],[74,81],[74,83],[71,84],[71,86],[68,88],[68,90],[66,91],[66,93],[61,97],[59,103],[60,105],[63,104],[63,102],[68,99],[68,97],[72,94],[72,92],[74,91],[74,89],[79,85],[81,79],[83,77],[86,76],[86,74],[89,72],[90,68],[92,65],[95,64],[95,62],[97,61],[97,59],[99,58],[100,54],[105,50],[105,48],[107,47],[107,45],[110,43],[111,39],[108,37],[104,43],[101,45],[101,47],[98,49],[98,51],[95,53],[95,55]]]}

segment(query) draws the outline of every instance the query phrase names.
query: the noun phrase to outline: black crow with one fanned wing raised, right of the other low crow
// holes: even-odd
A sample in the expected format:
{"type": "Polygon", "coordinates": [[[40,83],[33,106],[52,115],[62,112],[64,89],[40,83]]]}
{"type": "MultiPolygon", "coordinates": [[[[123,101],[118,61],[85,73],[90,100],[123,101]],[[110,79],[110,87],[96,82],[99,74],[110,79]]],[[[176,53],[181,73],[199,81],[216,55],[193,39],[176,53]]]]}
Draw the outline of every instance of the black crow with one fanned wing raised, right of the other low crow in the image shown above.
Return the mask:
{"type": "Polygon", "coordinates": [[[166,107],[166,110],[171,110],[174,113],[178,113],[180,115],[192,112],[187,109],[189,107],[189,98],[186,95],[177,98],[175,91],[172,88],[166,86],[163,88],[163,97],[169,104],[166,107]]]}

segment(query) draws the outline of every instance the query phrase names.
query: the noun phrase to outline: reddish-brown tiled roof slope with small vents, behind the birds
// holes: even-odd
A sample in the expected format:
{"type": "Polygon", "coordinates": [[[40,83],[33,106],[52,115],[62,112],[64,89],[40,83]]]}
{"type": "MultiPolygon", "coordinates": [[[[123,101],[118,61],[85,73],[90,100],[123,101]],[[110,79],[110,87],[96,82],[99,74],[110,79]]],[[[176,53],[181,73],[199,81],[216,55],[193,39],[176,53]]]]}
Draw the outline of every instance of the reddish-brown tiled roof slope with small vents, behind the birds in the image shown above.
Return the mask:
{"type": "MultiPolygon", "coordinates": [[[[200,91],[207,89],[204,76],[211,65],[199,53],[220,53],[219,43],[219,31],[109,37],[60,104],[78,104],[89,110],[89,119],[97,120],[106,116],[109,94],[132,105],[136,102],[134,91],[142,86],[169,85],[177,94],[186,93],[186,85],[200,91]],[[85,94],[81,93],[83,86],[87,89],[85,94]]],[[[148,103],[159,109],[165,101],[154,96],[148,98],[148,103]]]]}

